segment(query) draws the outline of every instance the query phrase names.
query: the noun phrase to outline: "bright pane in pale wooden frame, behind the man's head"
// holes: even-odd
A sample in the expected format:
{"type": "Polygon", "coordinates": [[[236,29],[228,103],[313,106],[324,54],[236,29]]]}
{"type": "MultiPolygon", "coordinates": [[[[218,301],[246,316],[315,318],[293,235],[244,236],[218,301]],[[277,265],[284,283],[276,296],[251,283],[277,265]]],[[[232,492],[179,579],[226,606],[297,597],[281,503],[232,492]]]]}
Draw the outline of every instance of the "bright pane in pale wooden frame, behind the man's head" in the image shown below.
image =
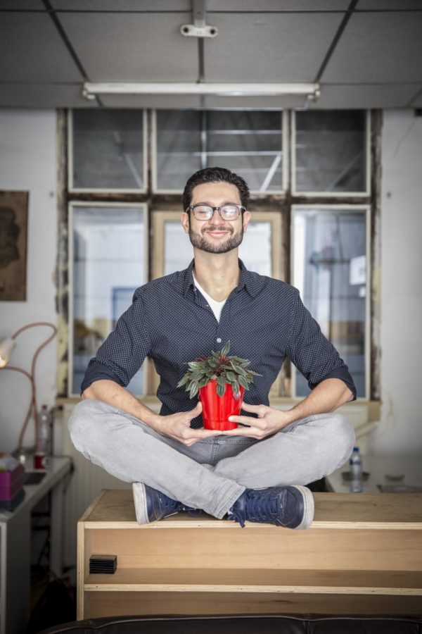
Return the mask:
{"type": "MultiPolygon", "coordinates": [[[[165,275],[186,268],[193,258],[193,247],[179,222],[165,223],[165,275]]],[[[271,223],[250,223],[239,247],[239,257],[250,271],[271,276],[271,223]]]]}

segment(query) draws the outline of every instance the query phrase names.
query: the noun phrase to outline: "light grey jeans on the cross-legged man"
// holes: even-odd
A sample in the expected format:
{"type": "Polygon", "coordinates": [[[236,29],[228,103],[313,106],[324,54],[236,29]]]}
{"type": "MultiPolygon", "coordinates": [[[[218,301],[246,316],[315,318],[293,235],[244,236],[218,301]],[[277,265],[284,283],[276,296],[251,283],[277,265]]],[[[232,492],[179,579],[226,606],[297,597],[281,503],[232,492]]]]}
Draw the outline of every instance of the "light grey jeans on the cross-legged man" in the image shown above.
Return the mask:
{"type": "Polygon", "coordinates": [[[143,482],[222,518],[245,488],[306,485],[345,463],[352,425],[316,414],[264,440],[218,435],[182,445],[106,403],[84,400],[69,420],[76,449],[124,482],[143,482]]]}

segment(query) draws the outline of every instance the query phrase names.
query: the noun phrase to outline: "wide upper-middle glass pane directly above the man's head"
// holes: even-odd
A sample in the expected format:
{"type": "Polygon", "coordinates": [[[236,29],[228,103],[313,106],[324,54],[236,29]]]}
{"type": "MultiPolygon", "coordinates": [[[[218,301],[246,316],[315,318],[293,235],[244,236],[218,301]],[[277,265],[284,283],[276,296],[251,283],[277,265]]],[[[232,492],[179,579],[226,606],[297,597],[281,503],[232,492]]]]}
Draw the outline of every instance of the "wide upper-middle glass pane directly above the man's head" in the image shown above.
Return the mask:
{"type": "Polygon", "coordinates": [[[283,188],[281,111],[157,111],[158,189],[182,191],[196,170],[219,166],[250,189],[283,188]]]}

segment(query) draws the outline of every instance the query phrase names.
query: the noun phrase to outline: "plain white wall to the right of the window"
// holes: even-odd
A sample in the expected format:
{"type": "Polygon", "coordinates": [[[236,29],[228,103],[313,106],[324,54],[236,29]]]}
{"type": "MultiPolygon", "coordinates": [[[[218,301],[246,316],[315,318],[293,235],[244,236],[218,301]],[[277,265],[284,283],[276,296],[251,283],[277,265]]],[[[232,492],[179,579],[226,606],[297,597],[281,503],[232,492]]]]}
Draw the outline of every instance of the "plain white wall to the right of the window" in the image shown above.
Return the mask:
{"type": "Polygon", "coordinates": [[[422,454],[422,118],[385,111],[381,192],[380,455],[422,454]]]}

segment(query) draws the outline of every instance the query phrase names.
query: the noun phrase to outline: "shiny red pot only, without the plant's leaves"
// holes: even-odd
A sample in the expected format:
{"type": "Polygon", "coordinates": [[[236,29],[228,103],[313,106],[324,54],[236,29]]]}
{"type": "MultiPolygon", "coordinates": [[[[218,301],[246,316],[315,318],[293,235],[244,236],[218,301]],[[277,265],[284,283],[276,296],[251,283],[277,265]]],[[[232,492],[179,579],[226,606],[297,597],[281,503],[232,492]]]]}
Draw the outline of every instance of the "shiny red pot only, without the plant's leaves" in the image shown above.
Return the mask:
{"type": "Polygon", "coordinates": [[[235,398],[231,385],[226,383],[224,396],[217,394],[217,381],[210,381],[204,387],[199,388],[199,399],[203,404],[203,421],[205,429],[228,430],[236,429],[237,423],[231,423],[229,416],[238,416],[241,413],[243,394],[242,386],[239,387],[240,396],[235,398]]]}

